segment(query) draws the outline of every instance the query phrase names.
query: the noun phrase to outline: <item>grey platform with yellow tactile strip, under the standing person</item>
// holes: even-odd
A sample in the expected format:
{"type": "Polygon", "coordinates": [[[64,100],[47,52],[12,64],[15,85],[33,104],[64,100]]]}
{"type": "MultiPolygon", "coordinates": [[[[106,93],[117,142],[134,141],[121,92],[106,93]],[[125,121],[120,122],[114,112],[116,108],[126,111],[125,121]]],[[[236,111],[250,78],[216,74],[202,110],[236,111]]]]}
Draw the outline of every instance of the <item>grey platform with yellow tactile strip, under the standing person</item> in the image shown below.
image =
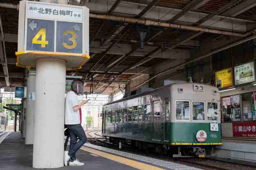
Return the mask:
{"type": "MultiPolygon", "coordinates": [[[[32,154],[33,145],[25,145],[24,139],[21,138],[19,132],[7,132],[0,137],[0,170],[36,170],[36,168],[32,167],[32,154]]],[[[53,168],[53,170],[200,170],[190,166],[116,151],[93,144],[85,144],[77,152],[77,158],[84,162],[85,165],[63,166],[61,168],[53,168]]]]}

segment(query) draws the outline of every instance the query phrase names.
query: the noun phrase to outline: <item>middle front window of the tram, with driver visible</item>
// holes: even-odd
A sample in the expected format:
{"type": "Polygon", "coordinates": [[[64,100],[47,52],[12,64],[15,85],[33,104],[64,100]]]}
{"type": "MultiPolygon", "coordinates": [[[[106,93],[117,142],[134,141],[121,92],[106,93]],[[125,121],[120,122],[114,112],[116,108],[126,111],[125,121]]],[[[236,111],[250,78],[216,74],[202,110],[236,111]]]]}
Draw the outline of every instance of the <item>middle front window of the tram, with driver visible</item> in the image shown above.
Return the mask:
{"type": "Polygon", "coordinates": [[[193,101],[193,120],[204,121],[204,102],[193,101]]]}

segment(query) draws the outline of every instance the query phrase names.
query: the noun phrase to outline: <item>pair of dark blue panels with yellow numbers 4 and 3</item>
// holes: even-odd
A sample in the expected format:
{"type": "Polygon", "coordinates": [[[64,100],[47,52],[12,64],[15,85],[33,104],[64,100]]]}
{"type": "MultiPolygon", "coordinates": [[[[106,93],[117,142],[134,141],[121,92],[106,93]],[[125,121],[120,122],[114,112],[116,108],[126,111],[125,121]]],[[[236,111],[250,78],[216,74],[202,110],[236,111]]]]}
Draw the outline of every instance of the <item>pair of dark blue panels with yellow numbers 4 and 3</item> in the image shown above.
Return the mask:
{"type": "Polygon", "coordinates": [[[36,51],[82,53],[82,23],[28,19],[26,49],[36,51]],[[57,22],[56,35],[54,26],[55,22],[57,22]],[[54,43],[55,37],[56,43],[54,43]]]}

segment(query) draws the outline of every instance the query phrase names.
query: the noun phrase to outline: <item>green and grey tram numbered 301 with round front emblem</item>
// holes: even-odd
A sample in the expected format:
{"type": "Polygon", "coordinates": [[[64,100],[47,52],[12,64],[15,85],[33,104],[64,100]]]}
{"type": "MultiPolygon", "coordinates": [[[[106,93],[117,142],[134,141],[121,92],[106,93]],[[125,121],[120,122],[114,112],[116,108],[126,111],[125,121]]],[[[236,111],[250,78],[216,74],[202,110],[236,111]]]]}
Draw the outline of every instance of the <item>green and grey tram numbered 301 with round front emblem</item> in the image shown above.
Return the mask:
{"type": "Polygon", "coordinates": [[[220,92],[175,83],[103,106],[102,136],[173,157],[205,157],[221,145],[220,92]]]}

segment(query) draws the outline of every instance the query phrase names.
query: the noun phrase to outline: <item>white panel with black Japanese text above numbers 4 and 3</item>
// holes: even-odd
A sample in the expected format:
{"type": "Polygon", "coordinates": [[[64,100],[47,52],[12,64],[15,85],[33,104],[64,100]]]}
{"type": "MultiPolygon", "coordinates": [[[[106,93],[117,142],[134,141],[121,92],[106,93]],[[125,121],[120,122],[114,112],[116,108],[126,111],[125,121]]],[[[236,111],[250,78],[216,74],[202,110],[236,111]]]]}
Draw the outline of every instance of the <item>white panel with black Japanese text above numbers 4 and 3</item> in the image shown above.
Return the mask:
{"type": "Polygon", "coordinates": [[[28,3],[27,18],[45,18],[48,20],[83,21],[83,8],[28,3]]]}

